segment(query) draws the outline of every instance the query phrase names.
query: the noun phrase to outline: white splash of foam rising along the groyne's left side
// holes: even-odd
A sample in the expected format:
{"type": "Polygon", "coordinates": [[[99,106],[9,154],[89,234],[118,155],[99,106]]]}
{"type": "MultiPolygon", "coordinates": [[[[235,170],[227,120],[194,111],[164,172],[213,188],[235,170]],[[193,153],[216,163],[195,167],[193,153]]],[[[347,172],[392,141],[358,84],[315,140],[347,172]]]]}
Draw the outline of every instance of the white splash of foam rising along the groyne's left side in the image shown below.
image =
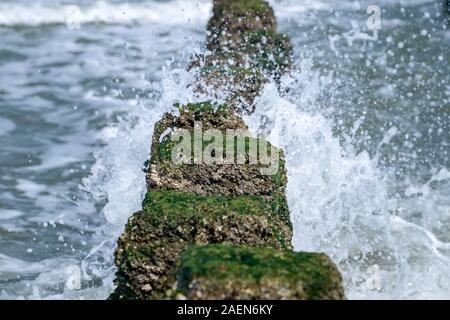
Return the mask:
{"type": "Polygon", "coordinates": [[[137,105],[115,127],[107,147],[94,153],[96,163],[82,188],[97,200],[108,200],[103,213],[111,224],[123,226],[140,209],[145,193],[142,168],[150,154],[153,126],[174,103],[192,99],[194,95],[187,88],[191,81],[184,69],[166,69],[161,83],[155,84],[159,87],[155,89],[163,92],[162,98],[152,106],[137,105]]]}

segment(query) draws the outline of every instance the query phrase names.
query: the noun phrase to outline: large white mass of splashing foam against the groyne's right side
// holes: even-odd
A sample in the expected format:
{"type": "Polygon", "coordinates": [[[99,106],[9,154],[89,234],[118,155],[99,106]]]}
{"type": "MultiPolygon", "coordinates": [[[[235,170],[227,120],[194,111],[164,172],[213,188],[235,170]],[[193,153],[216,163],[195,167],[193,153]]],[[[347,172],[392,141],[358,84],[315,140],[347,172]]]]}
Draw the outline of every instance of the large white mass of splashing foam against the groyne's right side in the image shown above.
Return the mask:
{"type": "MultiPolygon", "coordinates": [[[[350,147],[344,152],[331,121],[314,112],[310,93],[327,90],[328,82],[318,80],[307,60],[300,69],[296,83],[309,92],[308,99],[300,92],[290,99],[300,103],[291,103],[269,84],[248,119],[254,132],[264,123],[269,140],[286,152],[295,249],[329,254],[342,271],[349,298],[448,298],[450,242],[437,238],[437,228],[409,221],[405,209],[407,203],[424,217],[448,221],[445,192],[439,196],[428,183],[422,186],[426,192],[420,191],[432,193],[432,200],[389,196],[392,182],[377,168],[377,159],[354,154],[350,147]]],[[[389,130],[383,143],[395,134],[389,130]]],[[[448,179],[447,173],[441,170],[430,181],[448,179]]]]}

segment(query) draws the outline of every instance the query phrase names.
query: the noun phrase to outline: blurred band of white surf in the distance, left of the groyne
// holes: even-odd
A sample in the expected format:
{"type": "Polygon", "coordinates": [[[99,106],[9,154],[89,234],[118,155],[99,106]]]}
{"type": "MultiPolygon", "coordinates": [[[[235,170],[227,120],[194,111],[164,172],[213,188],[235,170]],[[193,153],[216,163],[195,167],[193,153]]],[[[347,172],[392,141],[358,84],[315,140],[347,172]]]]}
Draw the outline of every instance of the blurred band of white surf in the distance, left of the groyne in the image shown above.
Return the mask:
{"type": "Polygon", "coordinates": [[[38,26],[46,24],[86,23],[133,24],[158,23],[164,25],[202,23],[209,15],[211,4],[206,1],[156,2],[114,4],[96,1],[87,6],[44,3],[1,3],[0,25],[38,26]],[[201,5],[200,5],[201,4],[201,5]]]}

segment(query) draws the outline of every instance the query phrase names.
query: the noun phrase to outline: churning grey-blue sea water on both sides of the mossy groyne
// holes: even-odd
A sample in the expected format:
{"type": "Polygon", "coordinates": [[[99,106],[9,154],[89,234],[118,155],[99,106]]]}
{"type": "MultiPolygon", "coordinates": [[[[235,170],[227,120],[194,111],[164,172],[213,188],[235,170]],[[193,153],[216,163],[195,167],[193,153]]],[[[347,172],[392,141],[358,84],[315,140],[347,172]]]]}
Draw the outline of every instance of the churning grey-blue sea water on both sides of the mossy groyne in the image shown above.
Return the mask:
{"type": "MultiPolygon", "coordinates": [[[[0,215],[1,297],[105,299],[113,290],[113,251],[127,218],[141,207],[142,166],[153,125],[173,103],[194,97],[187,86],[192,75],[184,71],[189,57],[181,64],[172,60],[161,75],[153,75],[163,61],[184,52],[189,42],[184,38],[204,38],[211,4],[202,1],[180,13],[180,3],[82,6],[86,26],[76,36],[53,25],[66,22],[64,6],[2,4],[3,12],[17,9],[23,16],[0,15],[0,41],[7,44],[0,50],[0,67],[11,79],[0,88],[0,103],[8,100],[19,111],[30,105],[39,114],[29,109],[23,114],[32,113],[35,121],[41,113],[46,118],[34,127],[28,119],[20,122],[18,115],[0,114],[0,138],[19,139],[27,127],[41,132],[35,147],[41,149],[35,152],[16,147],[25,145],[24,140],[2,140],[14,154],[7,160],[17,166],[19,178],[5,172],[0,177],[2,203],[17,207],[2,207],[0,215]],[[28,19],[37,16],[35,9],[49,13],[48,18],[28,19]],[[126,14],[118,14],[120,10],[126,14]],[[40,28],[27,29],[26,22],[40,28]],[[153,23],[158,29],[146,25],[153,23]],[[186,31],[188,24],[200,25],[202,32],[186,31]],[[102,33],[114,36],[103,39],[102,33]],[[44,36],[48,48],[64,43],[64,50],[49,54],[39,44],[44,36]],[[130,39],[126,50],[122,36],[130,39]],[[22,40],[42,56],[23,49],[22,40]],[[146,41],[148,47],[139,47],[146,41]],[[81,55],[74,50],[80,46],[85,50],[81,55]],[[158,55],[152,46],[158,47],[158,55]],[[99,55],[100,64],[88,59],[99,55]],[[76,69],[73,59],[89,68],[76,69]],[[17,63],[36,71],[30,83],[23,83],[25,74],[17,72],[17,63]],[[52,66],[50,71],[46,66],[52,66]],[[147,68],[150,84],[141,78],[147,68]],[[50,73],[58,83],[45,76],[51,70],[60,70],[57,76],[50,73]],[[120,84],[122,78],[129,82],[102,89],[105,79],[120,84]],[[77,86],[73,79],[79,79],[77,86]],[[65,101],[67,95],[71,101],[65,101]],[[80,113],[83,108],[87,111],[80,113]],[[91,116],[97,110],[105,119],[91,116]],[[74,126],[61,125],[64,121],[74,126]],[[61,128],[53,129],[54,123],[61,128]],[[86,138],[91,134],[102,147],[86,138]],[[62,141],[52,144],[55,136],[62,141]],[[93,146],[94,159],[88,161],[84,154],[93,146]],[[22,157],[33,166],[17,163],[22,157]],[[77,192],[74,200],[64,184],[80,183],[80,175],[70,171],[77,161],[87,170],[80,170],[86,178],[82,196],[77,192]],[[24,199],[33,199],[33,206],[18,206],[24,199]],[[33,245],[33,238],[41,246],[33,245]]],[[[246,121],[254,132],[268,126],[270,140],[285,150],[295,249],[329,254],[343,274],[349,298],[449,298],[450,37],[429,1],[380,3],[386,9],[383,30],[372,37],[363,29],[365,1],[272,1],[280,31],[294,44],[298,70],[283,79],[285,96],[268,84],[256,113],[246,121]],[[410,19],[411,14],[417,19],[410,19]]]]}

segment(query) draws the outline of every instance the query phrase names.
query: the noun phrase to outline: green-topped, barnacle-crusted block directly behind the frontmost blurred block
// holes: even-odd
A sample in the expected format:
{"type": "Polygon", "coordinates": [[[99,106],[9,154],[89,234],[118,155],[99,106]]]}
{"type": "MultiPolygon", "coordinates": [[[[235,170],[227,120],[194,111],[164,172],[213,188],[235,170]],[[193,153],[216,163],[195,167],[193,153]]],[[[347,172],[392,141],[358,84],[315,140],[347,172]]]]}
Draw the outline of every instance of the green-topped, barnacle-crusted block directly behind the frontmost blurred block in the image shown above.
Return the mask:
{"type": "Polygon", "coordinates": [[[291,229],[260,196],[201,196],[149,191],[128,221],[115,253],[114,299],[148,299],[168,289],[170,270],[193,244],[290,249],[291,229]]]}

